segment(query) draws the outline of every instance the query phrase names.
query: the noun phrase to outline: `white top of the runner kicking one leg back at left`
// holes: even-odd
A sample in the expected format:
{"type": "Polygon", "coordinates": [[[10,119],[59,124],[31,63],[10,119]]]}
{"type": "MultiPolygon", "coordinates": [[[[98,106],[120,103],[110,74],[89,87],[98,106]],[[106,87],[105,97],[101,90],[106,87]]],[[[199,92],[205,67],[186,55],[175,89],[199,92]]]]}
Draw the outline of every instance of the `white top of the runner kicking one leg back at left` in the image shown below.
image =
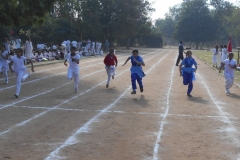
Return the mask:
{"type": "Polygon", "coordinates": [[[13,70],[14,72],[18,73],[19,71],[26,71],[26,67],[24,66],[24,61],[26,57],[21,56],[18,58],[16,55],[11,57],[11,61],[13,62],[13,70]]]}

